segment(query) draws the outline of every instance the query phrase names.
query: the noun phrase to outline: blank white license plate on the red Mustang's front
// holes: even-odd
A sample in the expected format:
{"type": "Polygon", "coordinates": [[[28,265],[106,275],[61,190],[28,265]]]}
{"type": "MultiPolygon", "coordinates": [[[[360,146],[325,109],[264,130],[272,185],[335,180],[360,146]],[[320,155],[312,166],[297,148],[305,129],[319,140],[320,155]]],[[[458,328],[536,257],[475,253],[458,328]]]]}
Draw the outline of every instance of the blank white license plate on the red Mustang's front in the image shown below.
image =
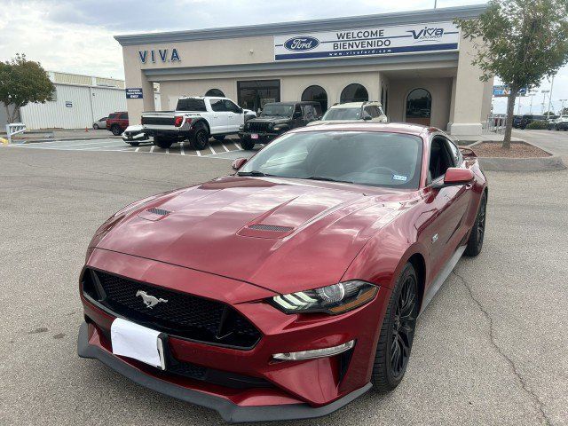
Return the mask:
{"type": "Polygon", "coordinates": [[[166,369],[161,332],[143,327],[127,319],[114,319],[110,327],[114,355],[138,359],[154,367],[166,369]]]}

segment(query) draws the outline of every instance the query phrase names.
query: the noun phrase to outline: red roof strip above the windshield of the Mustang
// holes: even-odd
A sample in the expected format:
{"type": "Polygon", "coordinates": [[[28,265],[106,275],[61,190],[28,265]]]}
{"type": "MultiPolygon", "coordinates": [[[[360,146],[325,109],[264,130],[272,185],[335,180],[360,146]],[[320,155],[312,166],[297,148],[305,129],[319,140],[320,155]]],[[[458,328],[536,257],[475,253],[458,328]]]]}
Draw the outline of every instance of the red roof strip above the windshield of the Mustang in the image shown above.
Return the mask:
{"type": "Polygon", "coordinates": [[[407,122],[342,122],[332,124],[330,122],[314,124],[312,126],[300,127],[290,130],[290,133],[301,133],[304,131],[382,131],[392,133],[405,133],[407,135],[423,136],[424,134],[441,132],[435,127],[422,126],[407,122]]]}

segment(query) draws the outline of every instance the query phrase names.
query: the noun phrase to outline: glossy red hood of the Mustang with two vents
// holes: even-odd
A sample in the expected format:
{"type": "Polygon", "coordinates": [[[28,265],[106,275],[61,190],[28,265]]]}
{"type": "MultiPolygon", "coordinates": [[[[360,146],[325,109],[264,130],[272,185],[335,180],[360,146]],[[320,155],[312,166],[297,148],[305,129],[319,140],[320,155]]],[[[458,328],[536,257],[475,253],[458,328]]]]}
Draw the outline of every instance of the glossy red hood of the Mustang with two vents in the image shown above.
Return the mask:
{"type": "Polygon", "coordinates": [[[99,228],[93,245],[280,293],[322,287],[341,280],[366,241],[405,209],[405,193],[356,188],[224,177],[133,204],[99,228]]]}

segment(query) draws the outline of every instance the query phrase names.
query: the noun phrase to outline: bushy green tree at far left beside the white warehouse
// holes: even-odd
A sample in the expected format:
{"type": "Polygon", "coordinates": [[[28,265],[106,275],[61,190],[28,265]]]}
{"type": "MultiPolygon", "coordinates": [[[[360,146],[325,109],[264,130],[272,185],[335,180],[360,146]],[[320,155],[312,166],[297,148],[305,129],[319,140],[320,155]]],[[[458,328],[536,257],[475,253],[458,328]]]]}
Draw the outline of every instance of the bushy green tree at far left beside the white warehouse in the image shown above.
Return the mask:
{"type": "Polygon", "coordinates": [[[43,67],[26,55],[17,53],[15,58],[0,62],[0,102],[4,102],[8,122],[14,122],[20,108],[29,102],[51,100],[53,91],[55,86],[43,67]]]}

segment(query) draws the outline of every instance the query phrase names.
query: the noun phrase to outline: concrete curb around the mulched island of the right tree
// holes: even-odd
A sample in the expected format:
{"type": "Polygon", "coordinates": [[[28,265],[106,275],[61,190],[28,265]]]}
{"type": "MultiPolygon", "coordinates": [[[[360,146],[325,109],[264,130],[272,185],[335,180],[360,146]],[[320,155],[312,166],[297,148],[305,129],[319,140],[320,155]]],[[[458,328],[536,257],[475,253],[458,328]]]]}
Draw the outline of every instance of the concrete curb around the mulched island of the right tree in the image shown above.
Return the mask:
{"type": "MultiPolygon", "coordinates": [[[[484,141],[477,141],[467,146],[472,148],[482,144],[484,141]]],[[[517,142],[518,143],[518,142],[517,142]]],[[[477,161],[487,171],[556,171],[565,170],[566,165],[562,161],[560,155],[555,155],[541,146],[531,144],[523,139],[523,142],[530,146],[535,146],[545,153],[550,154],[549,157],[532,157],[532,158],[508,158],[508,157],[477,157],[477,161]]]]}

